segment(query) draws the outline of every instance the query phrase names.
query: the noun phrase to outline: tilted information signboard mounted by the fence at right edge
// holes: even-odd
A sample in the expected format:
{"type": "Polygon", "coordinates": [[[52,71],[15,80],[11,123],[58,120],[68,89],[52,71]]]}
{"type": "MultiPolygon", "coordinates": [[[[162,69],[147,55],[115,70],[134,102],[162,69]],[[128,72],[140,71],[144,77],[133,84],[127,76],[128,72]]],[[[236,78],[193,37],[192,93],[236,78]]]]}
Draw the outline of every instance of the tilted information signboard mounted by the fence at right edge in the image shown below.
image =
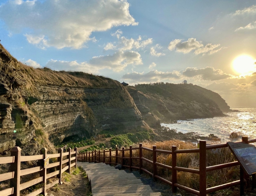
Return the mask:
{"type": "Polygon", "coordinates": [[[256,173],[256,147],[252,144],[227,142],[241,167],[248,175],[256,173]]]}

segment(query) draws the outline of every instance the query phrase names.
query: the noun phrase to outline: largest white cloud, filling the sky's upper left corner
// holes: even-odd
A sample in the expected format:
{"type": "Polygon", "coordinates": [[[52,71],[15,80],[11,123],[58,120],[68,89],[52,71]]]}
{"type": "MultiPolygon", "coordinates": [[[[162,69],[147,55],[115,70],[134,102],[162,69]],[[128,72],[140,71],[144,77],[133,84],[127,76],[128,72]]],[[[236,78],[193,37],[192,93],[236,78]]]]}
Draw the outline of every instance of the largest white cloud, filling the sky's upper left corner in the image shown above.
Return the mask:
{"type": "Polygon", "coordinates": [[[12,32],[25,30],[28,41],[41,48],[79,49],[92,32],[137,25],[129,6],[126,0],[9,0],[1,5],[0,18],[12,32]]]}

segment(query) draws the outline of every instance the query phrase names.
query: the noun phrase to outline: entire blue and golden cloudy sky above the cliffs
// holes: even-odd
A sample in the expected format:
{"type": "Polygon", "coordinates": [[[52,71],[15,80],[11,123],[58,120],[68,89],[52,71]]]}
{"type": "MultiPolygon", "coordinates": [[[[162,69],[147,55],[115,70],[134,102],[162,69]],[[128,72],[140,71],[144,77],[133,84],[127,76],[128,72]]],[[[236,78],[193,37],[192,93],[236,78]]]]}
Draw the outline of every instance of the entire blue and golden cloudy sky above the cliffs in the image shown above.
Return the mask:
{"type": "Polygon", "coordinates": [[[188,83],[256,106],[256,2],[1,0],[1,44],[35,68],[188,83]]]}

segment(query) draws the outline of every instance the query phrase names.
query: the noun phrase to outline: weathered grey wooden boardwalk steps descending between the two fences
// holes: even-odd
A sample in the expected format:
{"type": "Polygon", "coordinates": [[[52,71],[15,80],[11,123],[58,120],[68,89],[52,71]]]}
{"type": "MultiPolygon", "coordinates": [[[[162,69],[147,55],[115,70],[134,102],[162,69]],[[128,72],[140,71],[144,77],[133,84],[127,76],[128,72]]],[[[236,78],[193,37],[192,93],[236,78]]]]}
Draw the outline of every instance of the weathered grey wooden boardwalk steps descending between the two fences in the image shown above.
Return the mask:
{"type": "Polygon", "coordinates": [[[93,196],[161,196],[143,185],[133,173],[115,169],[105,163],[77,162],[87,173],[93,196]]]}

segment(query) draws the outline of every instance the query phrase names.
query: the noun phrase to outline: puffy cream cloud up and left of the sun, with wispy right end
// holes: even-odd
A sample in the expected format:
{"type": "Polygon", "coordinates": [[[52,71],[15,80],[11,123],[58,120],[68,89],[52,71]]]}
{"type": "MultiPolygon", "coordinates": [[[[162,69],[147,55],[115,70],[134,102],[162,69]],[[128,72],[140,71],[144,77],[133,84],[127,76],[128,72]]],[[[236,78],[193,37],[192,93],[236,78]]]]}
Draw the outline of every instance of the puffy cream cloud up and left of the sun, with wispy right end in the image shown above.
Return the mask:
{"type": "Polygon", "coordinates": [[[215,48],[219,47],[220,44],[212,45],[211,43],[207,43],[205,46],[202,44],[202,41],[197,41],[195,38],[189,38],[187,41],[183,41],[181,39],[173,40],[169,43],[168,49],[174,50],[181,53],[189,53],[194,50],[194,54],[214,54],[220,51],[222,48],[215,50],[215,48]]]}

